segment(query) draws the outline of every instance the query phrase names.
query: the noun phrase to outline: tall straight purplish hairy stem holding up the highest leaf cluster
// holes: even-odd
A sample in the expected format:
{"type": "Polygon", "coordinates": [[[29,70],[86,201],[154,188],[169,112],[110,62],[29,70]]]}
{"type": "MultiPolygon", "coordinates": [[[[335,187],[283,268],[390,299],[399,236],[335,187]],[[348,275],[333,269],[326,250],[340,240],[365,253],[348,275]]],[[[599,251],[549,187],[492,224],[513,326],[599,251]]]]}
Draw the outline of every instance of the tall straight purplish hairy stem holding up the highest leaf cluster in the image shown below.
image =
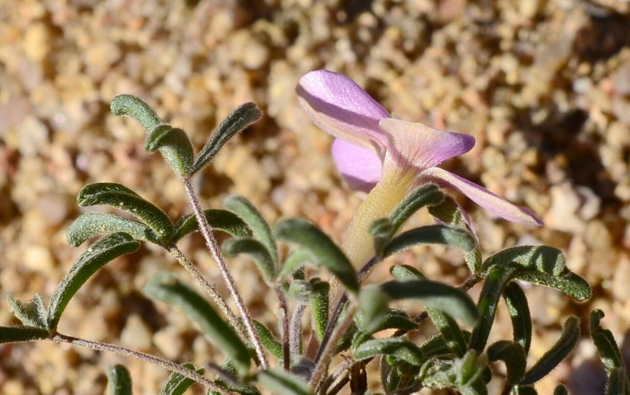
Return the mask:
{"type": "Polygon", "coordinates": [[[188,195],[188,200],[190,200],[190,205],[193,208],[193,212],[195,212],[195,217],[197,217],[197,223],[199,224],[199,229],[201,230],[203,238],[205,239],[205,244],[208,247],[212,258],[214,258],[214,260],[217,261],[217,265],[219,265],[219,270],[221,270],[221,275],[226,282],[227,289],[230,290],[230,294],[232,294],[234,302],[236,302],[236,307],[238,307],[238,310],[241,313],[241,317],[243,317],[245,327],[247,328],[247,331],[249,333],[249,339],[251,340],[251,343],[256,350],[258,360],[260,360],[260,367],[261,369],[265,370],[269,367],[269,362],[267,360],[267,356],[265,355],[265,351],[263,350],[263,345],[260,341],[260,338],[258,338],[258,333],[254,328],[253,319],[249,314],[247,306],[243,302],[241,294],[236,288],[234,278],[232,277],[229,270],[227,270],[226,262],[224,261],[221,250],[219,249],[217,239],[214,238],[214,235],[211,232],[210,224],[208,224],[208,220],[203,214],[201,206],[199,205],[197,194],[195,193],[195,190],[193,189],[190,180],[184,181],[183,184],[184,189],[186,190],[186,195],[188,195]]]}

